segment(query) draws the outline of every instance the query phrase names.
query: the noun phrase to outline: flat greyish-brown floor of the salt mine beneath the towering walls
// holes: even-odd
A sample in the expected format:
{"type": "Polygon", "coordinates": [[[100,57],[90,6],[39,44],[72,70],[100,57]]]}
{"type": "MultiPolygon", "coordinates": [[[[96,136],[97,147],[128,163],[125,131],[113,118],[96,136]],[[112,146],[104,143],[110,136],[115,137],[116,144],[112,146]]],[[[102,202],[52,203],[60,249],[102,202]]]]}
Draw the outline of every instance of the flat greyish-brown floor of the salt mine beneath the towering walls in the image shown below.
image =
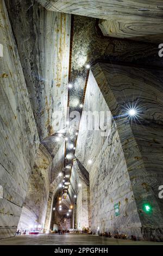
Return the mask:
{"type": "Polygon", "coordinates": [[[0,245],[163,245],[163,242],[131,241],[85,234],[20,235],[0,240],[0,245]]]}

